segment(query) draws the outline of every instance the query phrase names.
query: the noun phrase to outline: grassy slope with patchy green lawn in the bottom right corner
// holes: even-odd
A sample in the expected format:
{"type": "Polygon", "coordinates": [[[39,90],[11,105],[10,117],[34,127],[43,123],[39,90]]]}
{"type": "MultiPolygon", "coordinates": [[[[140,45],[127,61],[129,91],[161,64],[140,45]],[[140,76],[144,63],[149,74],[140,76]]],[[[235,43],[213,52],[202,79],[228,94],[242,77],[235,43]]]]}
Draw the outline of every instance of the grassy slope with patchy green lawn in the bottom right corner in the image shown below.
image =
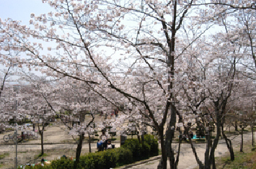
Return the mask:
{"type": "Polygon", "coordinates": [[[234,161],[230,160],[229,152],[222,157],[216,157],[217,169],[221,168],[256,168],[256,148],[252,146],[252,142],[244,143],[243,152],[240,147],[234,147],[234,161]]]}

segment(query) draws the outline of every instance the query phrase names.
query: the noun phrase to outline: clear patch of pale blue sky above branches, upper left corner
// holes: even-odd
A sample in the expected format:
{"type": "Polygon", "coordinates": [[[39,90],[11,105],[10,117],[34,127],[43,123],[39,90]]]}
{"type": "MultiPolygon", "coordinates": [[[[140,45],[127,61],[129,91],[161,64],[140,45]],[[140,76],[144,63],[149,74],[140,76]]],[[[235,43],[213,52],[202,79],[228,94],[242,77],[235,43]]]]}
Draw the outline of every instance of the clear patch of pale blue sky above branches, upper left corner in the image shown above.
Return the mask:
{"type": "Polygon", "coordinates": [[[29,24],[30,14],[47,14],[51,7],[42,0],[0,0],[0,18],[12,18],[29,24]]]}

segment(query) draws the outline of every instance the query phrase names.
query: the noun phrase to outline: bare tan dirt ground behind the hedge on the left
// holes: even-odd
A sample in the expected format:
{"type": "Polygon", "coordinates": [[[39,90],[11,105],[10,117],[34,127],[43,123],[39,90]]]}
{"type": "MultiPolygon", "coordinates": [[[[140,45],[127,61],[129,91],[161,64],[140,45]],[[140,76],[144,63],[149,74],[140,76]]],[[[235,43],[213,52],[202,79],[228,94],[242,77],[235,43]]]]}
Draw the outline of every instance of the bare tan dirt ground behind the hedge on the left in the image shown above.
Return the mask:
{"type": "MultiPolygon", "coordinates": [[[[13,141],[8,143],[4,142],[3,138],[6,134],[13,134],[14,132],[0,134],[0,168],[14,168],[14,157],[16,153],[16,147],[13,141]]],[[[21,134],[18,132],[18,134],[21,134]]],[[[58,157],[66,155],[67,157],[75,157],[76,155],[76,143],[69,135],[69,132],[65,129],[64,125],[53,124],[48,126],[43,136],[44,150],[47,156],[45,160],[55,160],[58,157]],[[70,142],[69,144],[63,144],[63,142],[70,142]],[[62,143],[62,144],[50,144],[49,143],[62,143]]],[[[118,146],[116,146],[118,147],[118,146]]],[[[97,150],[96,143],[92,143],[92,152],[97,150]]],[[[26,163],[39,163],[42,157],[40,155],[41,146],[40,138],[37,140],[29,140],[17,145],[17,159],[18,165],[25,165],[26,163]],[[30,145],[28,145],[30,144],[30,145]],[[35,145],[38,144],[38,145],[35,145]]],[[[84,143],[81,153],[85,154],[89,152],[88,143],[84,143]]]]}

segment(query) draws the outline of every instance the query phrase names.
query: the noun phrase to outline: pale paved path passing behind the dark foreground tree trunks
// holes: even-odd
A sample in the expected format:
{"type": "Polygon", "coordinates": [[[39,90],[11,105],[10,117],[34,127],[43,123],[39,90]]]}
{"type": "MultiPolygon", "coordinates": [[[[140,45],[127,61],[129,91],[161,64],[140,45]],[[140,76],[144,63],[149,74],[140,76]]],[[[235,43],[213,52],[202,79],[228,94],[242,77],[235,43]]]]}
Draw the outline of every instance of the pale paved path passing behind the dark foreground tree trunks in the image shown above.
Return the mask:
{"type": "MultiPolygon", "coordinates": [[[[229,137],[229,139],[232,140],[233,147],[237,147],[240,145],[241,142],[241,135],[234,135],[229,137]]],[[[248,132],[247,134],[244,134],[244,142],[252,142],[252,133],[248,132]]],[[[172,144],[175,152],[177,152],[177,146],[178,144],[172,144]]],[[[204,161],[204,153],[206,151],[206,144],[194,144],[195,150],[198,153],[198,157],[203,162],[204,161]]],[[[215,150],[215,156],[219,157],[221,155],[224,155],[225,152],[227,152],[228,149],[226,147],[226,142],[224,139],[219,140],[219,145],[217,146],[215,150]]],[[[156,169],[157,165],[159,164],[159,160],[152,160],[148,163],[144,163],[141,165],[135,165],[131,168],[133,169],[156,169]]],[[[169,161],[167,164],[167,169],[169,169],[169,161]]],[[[198,164],[195,160],[195,155],[193,154],[193,151],[189,144],[182,144],[180,147],[180,160],[178,164],[179,169],[192,169],[197,167],[198,164]]]]}

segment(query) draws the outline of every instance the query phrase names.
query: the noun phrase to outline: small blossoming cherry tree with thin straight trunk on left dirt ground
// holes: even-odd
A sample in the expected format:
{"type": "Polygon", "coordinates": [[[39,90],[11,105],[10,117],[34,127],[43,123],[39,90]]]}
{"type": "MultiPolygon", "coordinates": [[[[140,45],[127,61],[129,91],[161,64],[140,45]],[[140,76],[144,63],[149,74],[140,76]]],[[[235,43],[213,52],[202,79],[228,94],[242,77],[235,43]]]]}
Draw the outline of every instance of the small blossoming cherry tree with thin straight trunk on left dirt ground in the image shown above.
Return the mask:
{"type": "Polygon", "coordinates": [[[18,97],[20,98],[20,106],[18,111],[30,117],[31,122],[37,127],[41,140],[41,155],[44,154],[43,133],[56,115],[51,109],[50,99],[52,93],[50,86],[52,85],[43,77],[37,77],[34,74],[27,74],[27,85],[22,86],[18,97]]]}

